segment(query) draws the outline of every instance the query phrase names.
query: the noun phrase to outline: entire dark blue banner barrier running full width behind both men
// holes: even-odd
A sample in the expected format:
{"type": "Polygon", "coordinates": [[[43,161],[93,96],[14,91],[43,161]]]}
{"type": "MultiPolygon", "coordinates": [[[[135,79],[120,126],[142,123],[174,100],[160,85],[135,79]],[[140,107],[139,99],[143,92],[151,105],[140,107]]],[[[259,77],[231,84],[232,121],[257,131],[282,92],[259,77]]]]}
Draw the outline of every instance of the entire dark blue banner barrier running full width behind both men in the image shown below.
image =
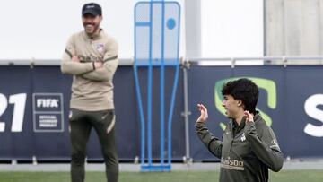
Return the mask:
{"type": "MultiPolygon", "coordinates": [[[[228,118],[223,115],[223,82],[247,77],[258,84],[258,110],[277,136],[284,156],[323,157],[323,74],[321,65],[197,66],[188,69],[190,154],[193,160],[216,160],[196,136],[197,103],[209,110],[209,129],[221,137],[228,118]]],[[[160,70],[153,70],[159,82],[160,70]]],[[[165,73],[165,97],[170,100],[175,71],[165,73]]],[[[146,71],[140,70],[143,88],[146,71]]],[[[0,66],[0,160],[69,160],[69,100],[72,76],[58,66],[0,66]]],[[[185,153],[182,75],[175,101],[172,124],[172,160],[185,153]]],[[[132,66],[119,66],[114,77],[117,115],[117,144],[120,160],[140,156],[140,117],[135,98],[132,66]]],[[[146,90],[143,90],[145,94],[146,90]]],[[[159,87],[153,86],[153,159],[160,157],[159,87]]],[[[146,100],[143,100],[146,108],[146,100]]],[[[167,104],[169,105],[169,104],[167,104]]],[[[169,108],[165,108],[169,110],[169,108]]],[[[168,113],[166,113],[168,114],[168,113]]],[[[88,160],[102,160],[97,135],[88,143],[88,160]]]]}

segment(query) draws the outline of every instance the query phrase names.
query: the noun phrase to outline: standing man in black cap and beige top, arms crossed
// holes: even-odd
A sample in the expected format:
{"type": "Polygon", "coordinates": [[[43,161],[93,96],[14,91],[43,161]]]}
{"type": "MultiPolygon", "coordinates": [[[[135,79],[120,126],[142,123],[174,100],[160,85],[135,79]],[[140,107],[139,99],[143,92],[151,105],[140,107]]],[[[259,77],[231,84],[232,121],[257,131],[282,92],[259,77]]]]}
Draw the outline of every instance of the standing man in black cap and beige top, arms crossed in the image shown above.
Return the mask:
{"type": "Polygon", "coordinates": [[[82,20],[84,30],[70,37],[61,62],[62,73],[73,75],[69,116],[72,181],[84,181],[86,143],[93,127],[99,136],[107,179],[117,182],[112,79],[118,67],[118,43],[100,29],[99,4],[84,4],[82,20]]]}

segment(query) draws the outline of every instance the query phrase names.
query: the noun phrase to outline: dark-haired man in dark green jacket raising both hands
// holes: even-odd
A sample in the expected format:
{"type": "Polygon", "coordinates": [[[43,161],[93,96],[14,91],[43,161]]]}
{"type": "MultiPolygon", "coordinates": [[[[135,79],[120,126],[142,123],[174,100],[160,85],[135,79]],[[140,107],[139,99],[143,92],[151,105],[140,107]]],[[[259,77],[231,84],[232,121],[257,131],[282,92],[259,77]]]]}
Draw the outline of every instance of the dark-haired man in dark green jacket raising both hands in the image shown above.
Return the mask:
{"type": "Polygon", "coordinates": [[[205,126],[207,109],[198,104],[201,115],[196,133],[210,152],[221,159],[221,182],[268,181],[268,168],[277,172],[283,167],[281,152],[273,130],[256,111],[258,86],[248,79],[227,82],[223,86],[223,108],[231,118],[223,141],[205,126]]]}

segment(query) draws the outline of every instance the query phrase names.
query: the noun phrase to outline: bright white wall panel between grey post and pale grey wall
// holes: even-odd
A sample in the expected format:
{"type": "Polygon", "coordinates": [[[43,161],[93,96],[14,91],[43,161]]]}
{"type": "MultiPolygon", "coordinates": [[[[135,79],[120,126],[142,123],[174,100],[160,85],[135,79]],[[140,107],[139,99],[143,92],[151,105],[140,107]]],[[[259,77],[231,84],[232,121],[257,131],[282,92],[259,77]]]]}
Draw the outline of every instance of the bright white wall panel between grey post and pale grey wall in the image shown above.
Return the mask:
{"type": "Polygon", "coordinates": [[[202,0],[202,56],[264,56],[262,0],[202,0]]]}

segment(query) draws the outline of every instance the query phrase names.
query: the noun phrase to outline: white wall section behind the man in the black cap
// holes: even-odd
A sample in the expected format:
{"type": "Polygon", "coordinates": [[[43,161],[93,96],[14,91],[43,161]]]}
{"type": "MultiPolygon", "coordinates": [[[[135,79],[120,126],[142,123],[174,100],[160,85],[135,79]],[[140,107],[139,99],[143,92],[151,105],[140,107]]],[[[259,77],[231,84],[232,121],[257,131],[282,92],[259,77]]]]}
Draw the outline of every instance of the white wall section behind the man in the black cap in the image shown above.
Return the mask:
{"type": "Polygon", "coordinates": [[[0,11],[0,60],[60,59],[69,36],[83,30],[81,9],[88,2],[102,6],[101,27],[118,40],[119,57],[131,58],[134,55],[134,7],[138,1],[4,1],[0,11]]]}

